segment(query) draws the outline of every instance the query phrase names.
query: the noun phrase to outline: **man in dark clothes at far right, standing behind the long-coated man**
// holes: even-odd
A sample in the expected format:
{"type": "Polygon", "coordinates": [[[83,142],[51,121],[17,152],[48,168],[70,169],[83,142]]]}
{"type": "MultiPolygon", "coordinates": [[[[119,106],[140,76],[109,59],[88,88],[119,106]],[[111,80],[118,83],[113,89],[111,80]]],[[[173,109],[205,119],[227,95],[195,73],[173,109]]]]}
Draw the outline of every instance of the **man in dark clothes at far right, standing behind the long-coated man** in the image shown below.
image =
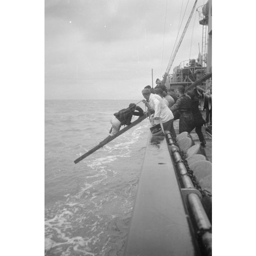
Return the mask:
{"type": "Polygon", "coordinates": [[[199,99],[197,98],[197,95],[195,95],[194,93],[190,93],[188,92],[187,95],[189,95],[189,97],[191,98],[191,107],[192,107],[192,113],[194,116],[194,125],[191,128],[191,131],[195,128],[195,132],[197,133],[201,145],[205,146],[206,145],[206,141],[204,138],[204,135],[202,134],[202,126],[206,123],[206,121],[203,119],[202,114],[198,108],[199,106],[199,99]]]}

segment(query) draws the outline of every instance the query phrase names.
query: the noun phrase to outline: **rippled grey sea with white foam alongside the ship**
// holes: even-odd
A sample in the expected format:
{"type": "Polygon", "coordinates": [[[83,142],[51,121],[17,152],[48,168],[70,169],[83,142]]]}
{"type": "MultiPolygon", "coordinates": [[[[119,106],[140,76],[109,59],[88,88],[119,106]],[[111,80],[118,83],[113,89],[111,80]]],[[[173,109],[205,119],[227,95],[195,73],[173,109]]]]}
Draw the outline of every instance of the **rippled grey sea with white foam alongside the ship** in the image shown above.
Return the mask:
{"type": "Polygon", "coordinates": [[[109,135],[114,112],[138,101],[45,100],[46,256],[123,254],[149,121],[73,161],[109,135]]]}

